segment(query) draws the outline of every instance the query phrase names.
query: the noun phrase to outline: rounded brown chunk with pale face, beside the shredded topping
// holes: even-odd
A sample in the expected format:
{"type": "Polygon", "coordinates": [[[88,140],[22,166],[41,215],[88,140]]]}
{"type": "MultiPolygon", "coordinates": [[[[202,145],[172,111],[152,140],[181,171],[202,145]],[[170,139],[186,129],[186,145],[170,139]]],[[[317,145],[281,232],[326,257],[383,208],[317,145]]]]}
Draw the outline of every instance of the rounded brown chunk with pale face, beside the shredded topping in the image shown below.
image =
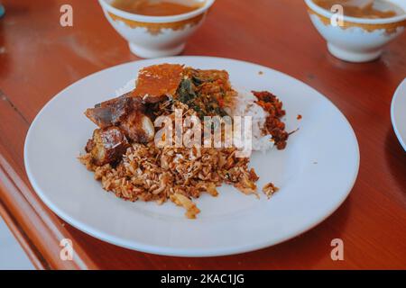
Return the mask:
{"type": "Polygon", "coordinates": [[[148,143],[155,136],[155,128],[151,119],[141,112],[134,111],[120,123],[128,139],[135,143],[148,143]]]}

